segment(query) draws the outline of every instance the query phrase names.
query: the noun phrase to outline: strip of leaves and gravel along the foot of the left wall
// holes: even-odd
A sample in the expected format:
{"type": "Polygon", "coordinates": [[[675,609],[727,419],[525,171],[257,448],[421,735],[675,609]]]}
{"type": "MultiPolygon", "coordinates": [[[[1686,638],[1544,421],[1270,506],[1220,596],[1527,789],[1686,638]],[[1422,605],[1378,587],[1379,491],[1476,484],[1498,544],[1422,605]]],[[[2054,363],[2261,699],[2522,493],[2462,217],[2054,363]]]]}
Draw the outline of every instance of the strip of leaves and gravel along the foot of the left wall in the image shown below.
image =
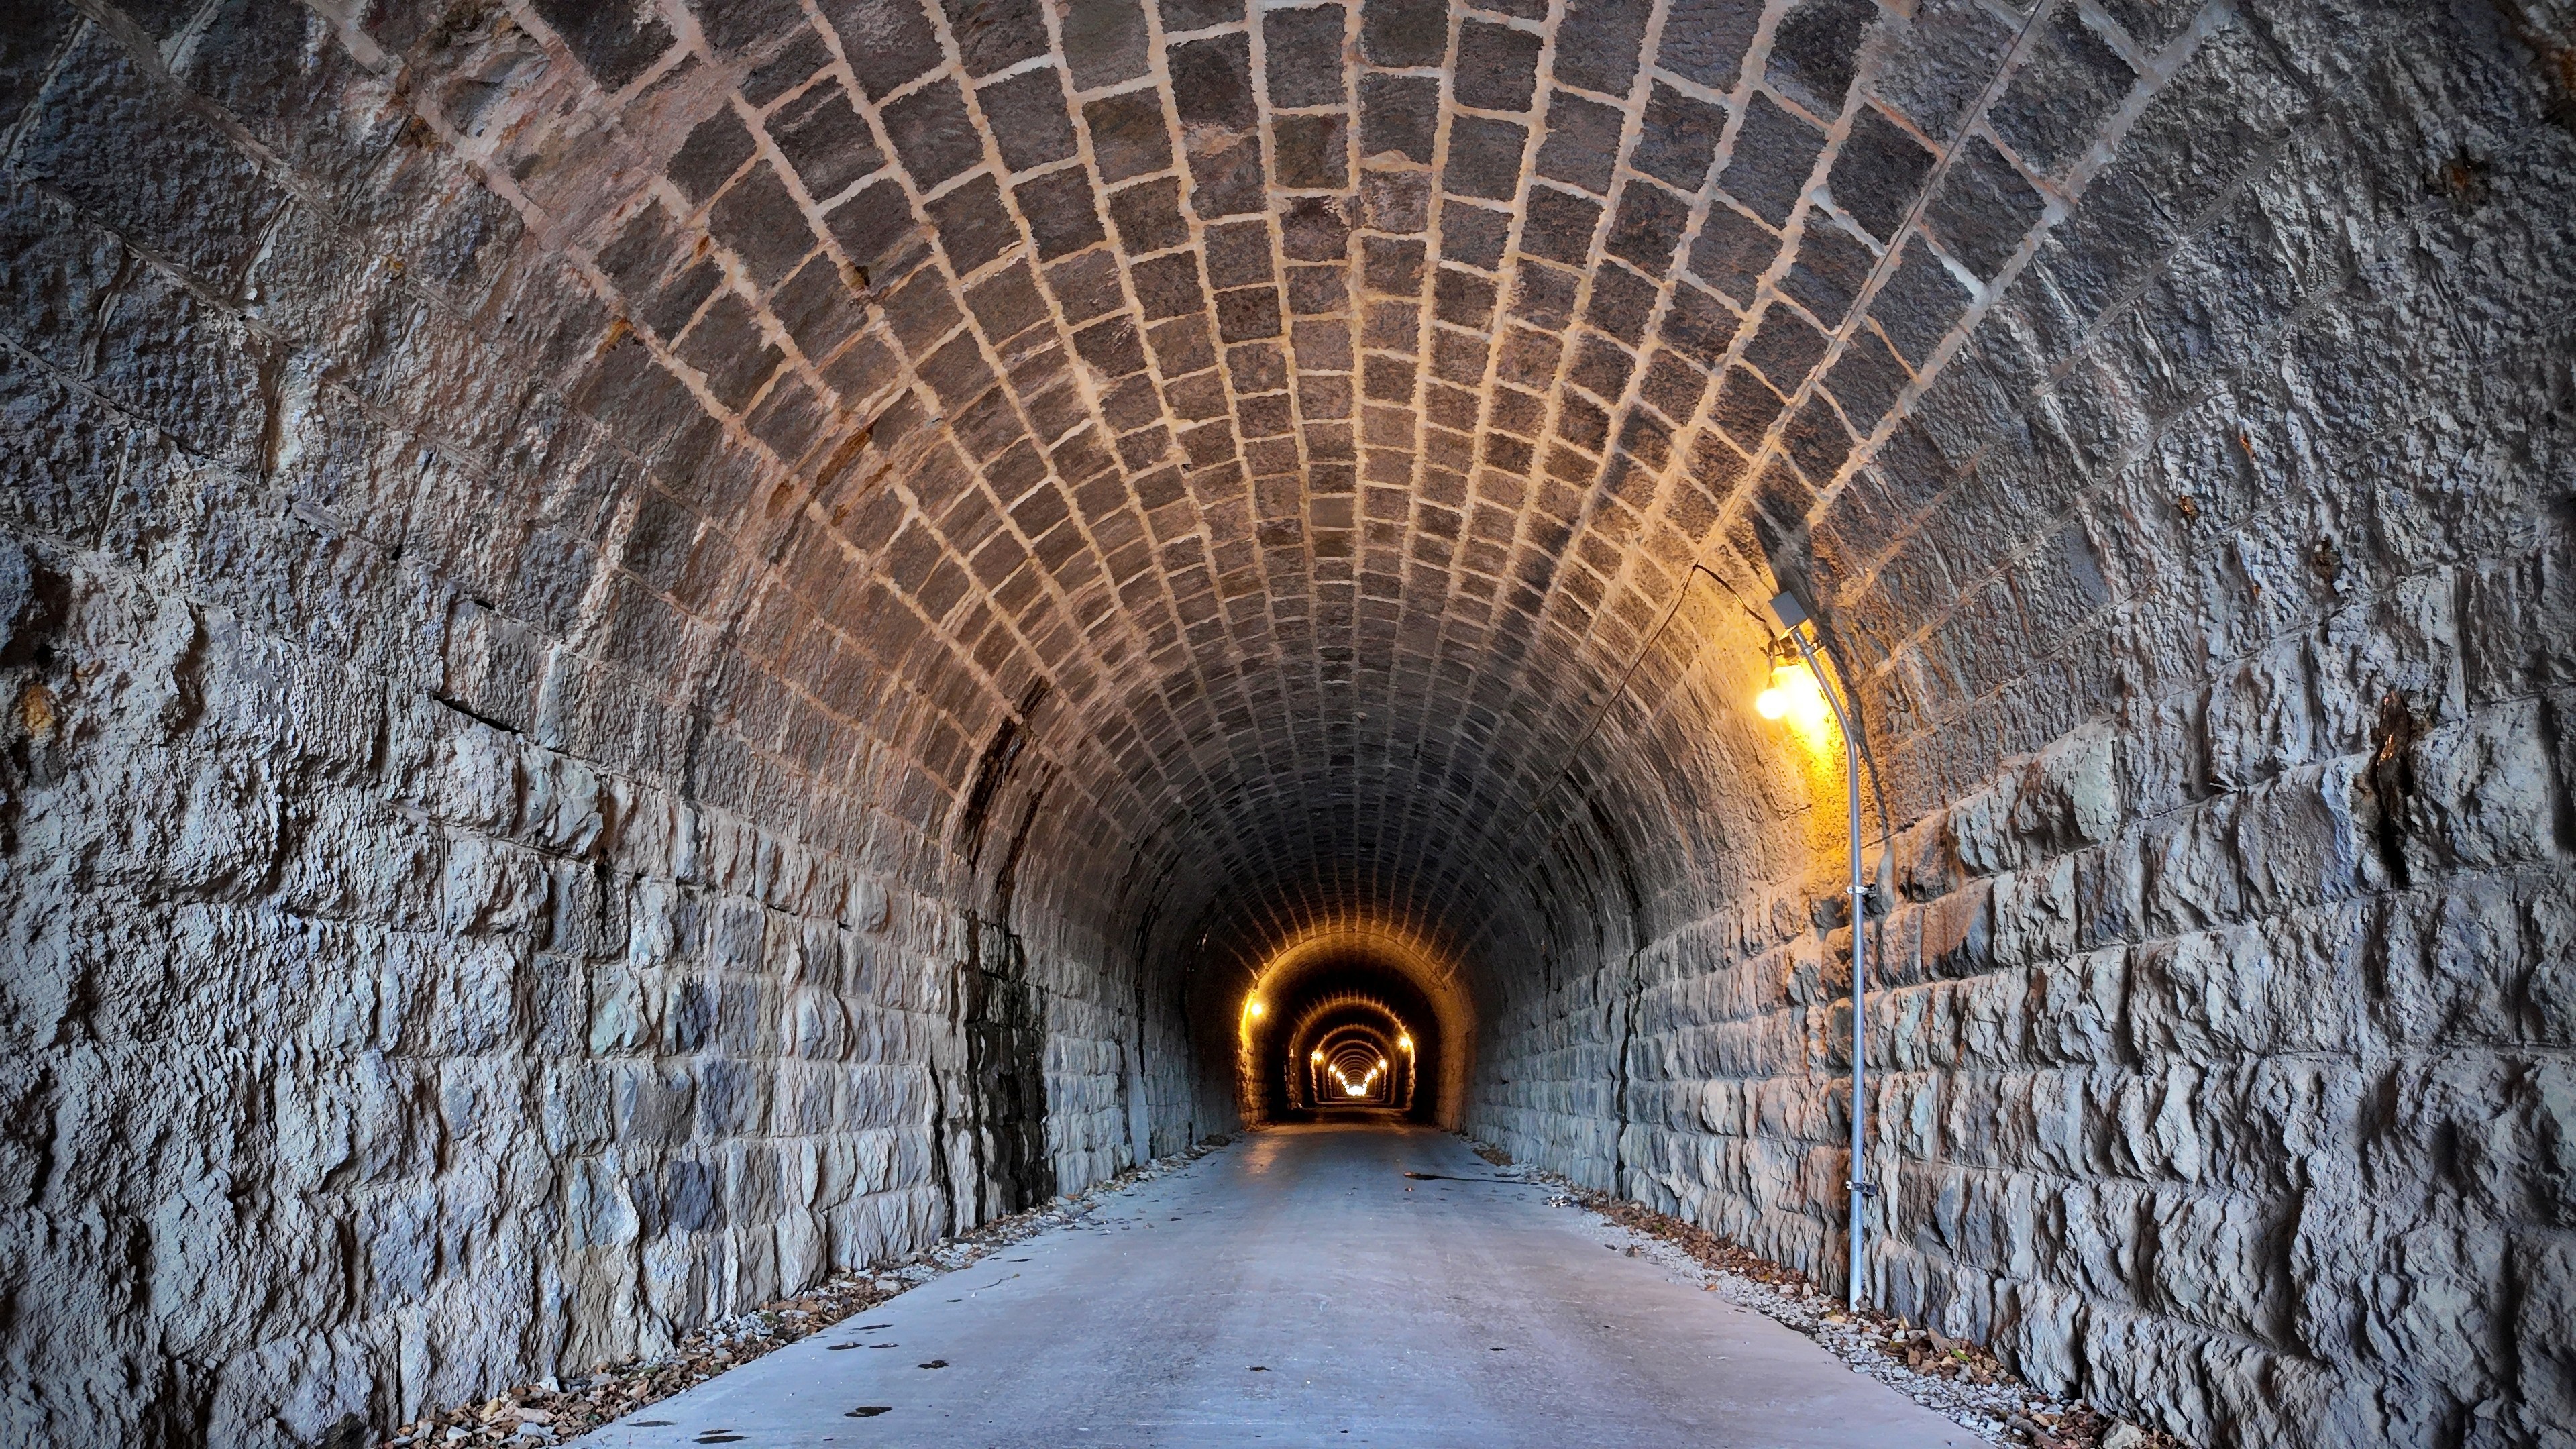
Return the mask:
{"type": "MultiPolygon", "coordinates": [[[[1208,1137],[1170,1158],[1154,1158],[1115,1178],[940,1240],[904,1263],[835,1274],[796,1297],[765,1302],[752,1312],[696,1328],[667,1354],[600,1364],[587,1374],[562,1382],[520,1385],[484,1403],[430,1413],[417,1423],[397,1426],[379,1444],[381,1449],[489,1449],[502,1444],[510,1449],[533,1449],[562,1444],[680,1390],[698,1387],[726,1369],[750,1364],[773,1348],[786,1348],[809,1333],[822,1333],[845,1318],[868,1312],[889,1297],[927,1284],[940,1274],[953,1274],[997,1248],[1023,1243],[1051,1227],[1084,1222],[1105,1196],[1185,1168],[1226,1142],[1226,1137],[1208,1137]]],[[[948,1364],[922,1366],[945,1369],[948,1364]]],[[[884,1408],[863,1405],[853,1410],[855,1418],[873,1413],[884,1413],[884,1408]]]]}

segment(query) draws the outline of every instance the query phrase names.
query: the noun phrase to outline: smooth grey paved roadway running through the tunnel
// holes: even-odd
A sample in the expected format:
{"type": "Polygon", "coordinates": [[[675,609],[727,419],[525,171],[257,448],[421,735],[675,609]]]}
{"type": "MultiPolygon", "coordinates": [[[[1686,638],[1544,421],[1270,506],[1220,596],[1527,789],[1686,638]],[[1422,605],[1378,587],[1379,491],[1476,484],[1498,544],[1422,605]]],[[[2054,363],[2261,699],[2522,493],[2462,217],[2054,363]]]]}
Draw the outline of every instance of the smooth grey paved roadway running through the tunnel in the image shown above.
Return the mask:
{"type": "Polygon", "coordinates": [[[1386,1119],[1260,1132],[582,1444],[1976,1444],[1543,1189],[1406,1171],[1494,1176],[1386,1119]]]}

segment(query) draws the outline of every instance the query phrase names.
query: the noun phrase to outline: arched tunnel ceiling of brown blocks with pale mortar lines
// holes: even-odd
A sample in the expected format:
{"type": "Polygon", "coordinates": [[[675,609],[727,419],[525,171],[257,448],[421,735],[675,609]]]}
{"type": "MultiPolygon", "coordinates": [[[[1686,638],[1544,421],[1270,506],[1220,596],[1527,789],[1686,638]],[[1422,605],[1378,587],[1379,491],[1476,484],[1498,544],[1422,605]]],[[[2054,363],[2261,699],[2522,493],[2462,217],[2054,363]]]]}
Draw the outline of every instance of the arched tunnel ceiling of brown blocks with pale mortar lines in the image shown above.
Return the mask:
{"type": "Polygon", "coordinates": [[[708,737],[930,856],[1033,740],[1043,890],[1139,949],[1381,918],[1473,954],[1783,869],[1752,601],[1847,601],[1911,722],[2012,678],[1899,668],[1929,634],[2099,608],[2066,508],[2136,446],[2112,384],[1968,338],[2027,268],[2081,330],[2130,286],[2102,240],[2169,250],[2223,201],[2200,152],[2306,103],[2259,23],[2141,0],[533,0],[374,34],[616,312],[574,407],[688,464],[603,650],[698,650],[708,737]],[[2154,108],[2177,75],[2236,113],[2154,108]],[[1932,541],[1999,379],[2066,402],[1932,541]]]}

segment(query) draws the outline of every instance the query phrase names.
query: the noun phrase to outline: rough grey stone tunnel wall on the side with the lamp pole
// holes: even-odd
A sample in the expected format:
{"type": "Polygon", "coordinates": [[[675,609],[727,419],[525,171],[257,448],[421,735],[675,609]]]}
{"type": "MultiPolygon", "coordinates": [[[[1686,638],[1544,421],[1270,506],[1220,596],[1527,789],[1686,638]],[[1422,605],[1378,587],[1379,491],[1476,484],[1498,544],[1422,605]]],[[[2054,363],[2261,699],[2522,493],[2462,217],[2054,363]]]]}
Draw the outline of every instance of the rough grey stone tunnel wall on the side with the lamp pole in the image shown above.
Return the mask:
{"type": "MultiPolygon", "coordinates": [[[[2061,44],[2105,21],[2184,18],[2061,44]]],[[[1981,134],[2089,160],[1914,423],[1765,541],[1857,665],[1899,825],[1868,1292],[2202,1444],[2568,1444],[2566,31],[2197,23],[2099,150],[2002,90],[1981,134]]],[[[2022,64],[2071,64],[2045,44],[2022,64]]],[[[1839,1281],[1816,766],[1806,871],[1522,977],[1476,1124],[1839,1281]]]]}

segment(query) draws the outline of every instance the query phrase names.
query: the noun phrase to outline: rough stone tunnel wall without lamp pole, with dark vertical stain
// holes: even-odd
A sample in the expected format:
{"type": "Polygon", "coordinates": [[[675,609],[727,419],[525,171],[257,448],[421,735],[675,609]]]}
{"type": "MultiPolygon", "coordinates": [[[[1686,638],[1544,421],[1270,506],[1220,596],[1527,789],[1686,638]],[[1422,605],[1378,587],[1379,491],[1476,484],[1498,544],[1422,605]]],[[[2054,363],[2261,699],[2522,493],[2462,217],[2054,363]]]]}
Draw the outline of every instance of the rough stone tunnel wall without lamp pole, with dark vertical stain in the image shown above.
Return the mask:
{"type": "Polygon", "coordinates": [[[1036,696],[814,624],[827,480],[600,382],[448,41],[0,10],[8,1444],[384,1426],[1193,1132],[979,773],[1036,696]]]}

